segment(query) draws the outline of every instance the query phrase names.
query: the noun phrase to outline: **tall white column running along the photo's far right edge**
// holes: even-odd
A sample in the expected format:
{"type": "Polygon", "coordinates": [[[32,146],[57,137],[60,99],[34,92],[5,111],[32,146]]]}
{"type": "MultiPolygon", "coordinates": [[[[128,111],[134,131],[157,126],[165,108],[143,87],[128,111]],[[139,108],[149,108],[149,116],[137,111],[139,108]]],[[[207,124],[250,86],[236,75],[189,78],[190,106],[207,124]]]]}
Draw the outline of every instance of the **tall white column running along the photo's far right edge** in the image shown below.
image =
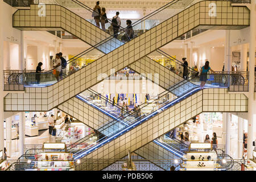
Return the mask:
{"type": "Polygon", "coordinates": [[[254,67],[255,67],[255,0],[251,0],[250,7],[250,49],[249,49],[249,99],[248,99],[248,139],[247,159],[253,158],[253,120],[255,113],[254,101],[254,67]]]}

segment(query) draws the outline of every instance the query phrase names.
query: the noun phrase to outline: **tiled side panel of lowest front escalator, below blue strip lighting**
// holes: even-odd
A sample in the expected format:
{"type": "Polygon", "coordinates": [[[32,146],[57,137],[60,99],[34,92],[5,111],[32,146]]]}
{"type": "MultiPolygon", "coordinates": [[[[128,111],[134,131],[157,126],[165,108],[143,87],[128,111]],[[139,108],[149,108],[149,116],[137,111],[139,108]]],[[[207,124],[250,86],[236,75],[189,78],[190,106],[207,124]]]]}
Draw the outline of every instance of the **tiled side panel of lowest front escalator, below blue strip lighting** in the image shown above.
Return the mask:
{"type": "Polygon", "coordinates": [[[111,140],[109,143],[86,155],[84,159],[121,159],[127,155],[128,150],[131,152],[138,150],[145,144],[203,111],[247,111],[247,98],[244,94],[237,93],[232,95],[228,93],[228,89],[224,88],[205,90],[206,89],[196,92],[162,113],[155,115],[155,117],[148,119],[141,125],[127,131],[121,135],[121,137],[111,140]],[[214,97],[214,95],[216,96],[214,97]],[[219,97],[217,97],[217,95],[219,97]],[[230,97],[234,103],[230,102],[230,97]],[[225,108],[221,107],[222,102],[225,103],[225,108]],[[214,104],[217,107],[214,107],[214,104]],[[234,107],[232,107],[233,105],[234,107]],[[104,150],[103,148],[108,148],[108,150],[104,150]]]}

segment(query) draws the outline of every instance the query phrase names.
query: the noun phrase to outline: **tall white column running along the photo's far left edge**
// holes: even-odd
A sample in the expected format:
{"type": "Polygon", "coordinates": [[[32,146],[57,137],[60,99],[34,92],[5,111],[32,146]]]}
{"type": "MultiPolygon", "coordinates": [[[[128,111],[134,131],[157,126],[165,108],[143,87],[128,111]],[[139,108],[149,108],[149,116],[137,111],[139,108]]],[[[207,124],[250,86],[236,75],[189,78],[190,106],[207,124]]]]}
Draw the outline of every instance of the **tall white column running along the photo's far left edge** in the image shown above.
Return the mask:
{"type": "Polygon", "coordinates": [[[0,150],[3,151],[3,1],[0,1],[0,150]]]}

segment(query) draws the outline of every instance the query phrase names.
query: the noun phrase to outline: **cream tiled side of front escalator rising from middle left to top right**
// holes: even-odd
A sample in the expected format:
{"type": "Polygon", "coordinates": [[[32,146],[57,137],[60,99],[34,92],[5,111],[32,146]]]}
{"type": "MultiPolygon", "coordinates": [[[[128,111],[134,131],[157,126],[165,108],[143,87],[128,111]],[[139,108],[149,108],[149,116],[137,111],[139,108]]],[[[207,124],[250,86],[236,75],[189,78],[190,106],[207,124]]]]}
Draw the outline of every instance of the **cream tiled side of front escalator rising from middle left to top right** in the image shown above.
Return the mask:
{"type": "MultiPolygon", "coordinates": [[[[123,44],[122,46],[118,47],[114,51],[106,54],[105,56],[102,56],[100,59],[94,61],[93,63],[86,65],[86,67],[80,69],[79,71],[73,73],[72,75],[68,76],[67,78],[64,78],[58,84],[54,84],[51,86],[47,86],[47,88],[36,88],[31,89],[27,88],[24,94],[20,94],[20,99],[16,97],[16,94],[8,94],[5,97],[5,111],[10,110],[16,110],[16,111],[23,111],[23,110],[50,110],[53,107],[62,104],[63,102],[69,100],[69,98],[72,98],[76,96],[77,94],[83,92],[84,90],[90,88],[93,85],[96,85],[98,82],[102,81],[104,77],[100,80],[97,80],[97,75],[99,73],[103,73],[105,77],[108,77],[111,75],[110,69],[115,69],[116,71],[119,71],[125,67],[129,67],[129,65],[132,65],[136,62],[138,62],[140,59],[145,58],[149,53],[152,51],[155,51],[156,49],[164,46],[165,44],[171,42],[172,40],[176,39],[177,37],[183,35],[185,32],[192,30],[195,27],[201,27],[204,26],[204,28],[221,28],[221,29],[240,29],[246,26],[249,26],[249,19],[245,19],[244,22],[241,23],[240,21],[237,21],[235,24],[228,24],[226,22],[227,18],[224,18],[224,16],[216,16],[214,18],[210,17],[207,12],[204,12],[202,15],[199,13],[200,9],[209,9],[208,4],[212,1],[203,1],[196,3],[195,5],[192,5],[188,9],[185,9],[184,11],[181,11],[181,13],[172,16],[168,20],[165,20],[164,22],[158,24],[158,26],[151,28],[144,34],[138,36],[137,38],[131,40],[130,42],[127,42],[123,44]],[[192,11],[193,13],[189,13],[192,11]],[[203,18],[204,15],[204,18],[203,18]],[[213,19],[210,22],[208,22],[209,19],[213,19]],[[184,24],[183,24],[183,19],[184,24]],[[220,26],[218,24],[219,20],[223,20],[223,24],[220,26]],[[187,26],[186,22],[191,22],[189,26],[187,26]],[[226,22],[226,23],[225,23],[226,22]],[[238,23],[239,22],[239,23],[238,23]],[[167,26],[168,24],[168,26],[167,26]],[[169,25],[172,26],[169,26],[169,25]],[[167,36],[168,35],[168,36],[167,36]],[[64,89],[65,85],[65,89],[64,89]],[[33,98],[26,96],[30,94],[37,94],[41,95],[40,98],[33,98]],[[43,94],[42,94],[43,93],[43,94]],[[53,94],[55,94],[55,97],[53,97],[53,94]],[[47,97],[48,96],[48,97],[47,97]],[[36,104],[31,104],[36,103],[36,104]]],[[[221,1],[216,2],[217,3],[217,11],[222,12],[223,9],[230,8],[234,9],[233,6],[231,6],[230,1],[221,1]]],[[[47,7],[51,7],[51,5],[47,5],[47,7]]],[[[57,6],[56,6],[57,8],[57,6]]],[[[246,7],[239,7],[242,8],[242,14],[246,14],[245,17],[249,14],[249,10],[247,10],[246,7]]],[[[61,10],[63,7],[61,7],[61,10]]],[[[32,9],[33,11],[34,9],[32,9]]],[[[48,10],[48,9],[47,9],[48,10]]],[[[56,9],[53,9],[54,11],[56,9]]],[[[16,16],[25,16],[22,15],[25,14],[25,11],[31,11],[30,10],[18,10],[14,14],[16,16]],[[20,11],[20,13],[19,13],[20,11]],[[21,13],[23,12],[23,13],[21,13]]],[[[65,10],[66,12],[67,10],[65,10]]],[[[234,10],[235,11],[235,10],[234,10]]],[[[64,11],[61,11],[61,14],[63,14],[64,11]]],[[[30,13],[26,13],[30,14],[30,13]]],[[[64,13],[65,14],[65,13],[64,13]]],[[[32,15],[32,14],[31,14],[32,15]]],[[[48,17],[48,16],[47,16],[48,17]]],[[[47,19],[46,17],[46,19],[47,19]]],[[[61,16],[60,21],[63,20],[63,16],[61,16]]],[[[18,18],[14,18],[14,26],[15,21],[18,18]]],[[[51,19],[51,17],[50,17],[51,19]]],[[[64,18],[65,19],[65,18],[64,18]]],[[[235,16],[233,17],[233,20],[236,19],[235,16]]],[[[81,19],[80,19],[81,20],[81,19]]],[[[237,18],[238,20],[238,18],[237,18]]],[[[236,21],[234,21],[236,22],[236,21]]],[[[63,22],[64,23],[64,22],[63,22]]],[[[85,23],[86,24],[86,23],[85,23]]],[[[60,24],[63,26],[63,24],[60,24]]],[[[24,26],[23,26],[24,27],[24,26]]],[[[51,25],[51,28],[55,28],[56,25],[54,23],[51,25]]],[[[66,28],[66,27],[61,27],[66,28]]],[[[56,30],[56,29],[55,29],[56,30]]],[[[81,33],[81,32],[80,32],[81,33]]],[[[81,34],[82,35],[82,34],[81,34]]],[[[79,35],[77,35],[79,36],[79,35]]],[[[80,36],[81,38],[82,36],[80,36]]],[[[106,42],[107,40],[105,40],[106,42]]],[[[97,46],[94,46],[97,47],[97,46]]],[[[86,51],[85,51],[86,52],[86,51]]],[[[85,52],[82,52],[77,57],[84,55],[85,52]]],[[[72,61],[70,60],[70,61],[72,61]]],[[[140,63],[141,68],[145,68],[145,71],[150,71],[152,68],[153,70],[158,70],[160,72],[160,76],[162,75],[165,77],[164,79],[161,79],[164,83],[164,85],[168,84],[168,74],[165,72],[165,70],[162,72],[159,65],[151,65],[150,69],[148,69],[148,65],[144,61],[140,63]]],[[[139,68],[139,69],[141,69],[139,68]]],[[[174,75],[174,78],[176,75],[174,75]]],[[[179,76],[176,77],[177,82],[179,81],[179,76]]],[[[174,82],[176,84],[177,82],[174,82]]]]}

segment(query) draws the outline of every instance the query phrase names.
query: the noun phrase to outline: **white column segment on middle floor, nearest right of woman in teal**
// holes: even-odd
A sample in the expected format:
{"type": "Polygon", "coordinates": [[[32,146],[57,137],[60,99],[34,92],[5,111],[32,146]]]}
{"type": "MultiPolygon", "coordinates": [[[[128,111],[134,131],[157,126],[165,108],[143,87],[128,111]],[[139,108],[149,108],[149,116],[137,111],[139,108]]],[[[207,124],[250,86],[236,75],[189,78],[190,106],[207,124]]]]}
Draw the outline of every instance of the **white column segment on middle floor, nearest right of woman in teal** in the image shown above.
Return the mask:
{"type": "Polygon", "coordinates": [[[230,30],[226,30],[225,36],[225,71],[231,71],[232,49],[230,47],[230,30]]]}

